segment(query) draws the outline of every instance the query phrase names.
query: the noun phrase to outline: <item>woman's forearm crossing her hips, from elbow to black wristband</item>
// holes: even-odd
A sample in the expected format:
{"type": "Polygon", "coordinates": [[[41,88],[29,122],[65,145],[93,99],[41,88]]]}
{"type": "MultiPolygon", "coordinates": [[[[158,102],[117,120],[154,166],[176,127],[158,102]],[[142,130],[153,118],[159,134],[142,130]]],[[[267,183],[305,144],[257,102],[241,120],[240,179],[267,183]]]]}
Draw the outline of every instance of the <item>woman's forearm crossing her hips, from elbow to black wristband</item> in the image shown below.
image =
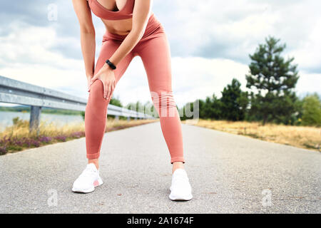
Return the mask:
{"type": "Polygon", "coordinates": [[[118,65],[125,56],[131,52],[131,50],[136,46],[138,41],[143,37],[142,31],[131,31],[128,33],[126,38],[123,40],[121,45],[117,48],[117,50],[113,53],[113,56],[109,58],[114,65],[118,65]]]}

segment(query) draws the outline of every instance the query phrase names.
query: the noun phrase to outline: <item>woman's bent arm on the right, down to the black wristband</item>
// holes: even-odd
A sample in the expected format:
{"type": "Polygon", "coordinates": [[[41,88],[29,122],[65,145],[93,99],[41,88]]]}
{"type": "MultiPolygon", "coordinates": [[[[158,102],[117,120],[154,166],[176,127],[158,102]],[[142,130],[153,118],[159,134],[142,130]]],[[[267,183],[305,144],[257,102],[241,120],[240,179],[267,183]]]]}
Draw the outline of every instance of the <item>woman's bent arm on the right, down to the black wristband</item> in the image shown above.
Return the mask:
{"type": "Polygon", "coordinates": [[[119,62],[131,52],[131,50],[136,46],[138,41],[141,40],[145,32],[148,15],[151,11],[151,1],[152,0],[136,0],[133,9],[133,26],[131,32],[128,33],[126,38],[121,43],[121,46],[117,48],[113,56],[109,60],[117,66],[119,62]]]}

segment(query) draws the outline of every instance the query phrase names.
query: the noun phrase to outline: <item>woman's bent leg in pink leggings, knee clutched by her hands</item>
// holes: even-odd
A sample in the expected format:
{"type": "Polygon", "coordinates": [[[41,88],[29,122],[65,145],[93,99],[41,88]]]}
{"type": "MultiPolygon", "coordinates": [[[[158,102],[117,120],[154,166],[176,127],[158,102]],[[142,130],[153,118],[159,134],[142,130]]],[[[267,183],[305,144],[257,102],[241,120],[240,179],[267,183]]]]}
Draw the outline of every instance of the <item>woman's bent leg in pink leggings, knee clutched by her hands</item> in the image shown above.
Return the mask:
{"type": "MultiPolygon", "coordinates": [[[[108,58],[111,58],[121,43],[108,39],[101,46],[96,63],[95,73],[101,69],[108,58]]],[[[116,85],[128,68],[129,63],[133,59],[133,53],[129,53],[121,63],[118,63],[115,72],[116,85]]],[[[103,83],[96,80],[91,85],[91,90],[88,96],[88,103],[85,111],[85,133],[86,133],[86,150],[88,163],[94,163],[98,168],[98,157],[101,150],[101,142],[106,130],[107,107],[110,100],[103,98],[103,83]]]]}

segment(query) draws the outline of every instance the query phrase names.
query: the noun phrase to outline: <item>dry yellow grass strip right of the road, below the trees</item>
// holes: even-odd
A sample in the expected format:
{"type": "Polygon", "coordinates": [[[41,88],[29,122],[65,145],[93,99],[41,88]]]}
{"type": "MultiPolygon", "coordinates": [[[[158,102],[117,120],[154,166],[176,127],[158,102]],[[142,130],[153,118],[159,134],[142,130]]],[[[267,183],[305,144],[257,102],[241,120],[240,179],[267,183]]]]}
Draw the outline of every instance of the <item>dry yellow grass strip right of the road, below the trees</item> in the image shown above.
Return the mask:
{"type": "Polygon", "coordinates": [[[268,142],[277,142],[308,150],[320,151],[321,128],[270,123],[263,126],[258,122],[233,122],[227,120],[199,120],[195,125],[236,135],[246,135],[268,142]]]}

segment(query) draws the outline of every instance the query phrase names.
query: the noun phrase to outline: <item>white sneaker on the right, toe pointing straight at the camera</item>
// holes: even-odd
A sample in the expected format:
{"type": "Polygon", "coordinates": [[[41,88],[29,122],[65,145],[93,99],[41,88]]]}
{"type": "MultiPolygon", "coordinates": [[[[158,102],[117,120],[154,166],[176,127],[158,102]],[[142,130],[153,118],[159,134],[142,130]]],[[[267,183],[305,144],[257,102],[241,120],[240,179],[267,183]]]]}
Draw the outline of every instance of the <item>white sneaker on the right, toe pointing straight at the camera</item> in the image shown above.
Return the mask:
{"type": "Polygon", "coordinates": [[[183,169],[177,169],[172,176],[169,198],[172,200],[190,200],[193,198],[188,175],[183,169]]]}

